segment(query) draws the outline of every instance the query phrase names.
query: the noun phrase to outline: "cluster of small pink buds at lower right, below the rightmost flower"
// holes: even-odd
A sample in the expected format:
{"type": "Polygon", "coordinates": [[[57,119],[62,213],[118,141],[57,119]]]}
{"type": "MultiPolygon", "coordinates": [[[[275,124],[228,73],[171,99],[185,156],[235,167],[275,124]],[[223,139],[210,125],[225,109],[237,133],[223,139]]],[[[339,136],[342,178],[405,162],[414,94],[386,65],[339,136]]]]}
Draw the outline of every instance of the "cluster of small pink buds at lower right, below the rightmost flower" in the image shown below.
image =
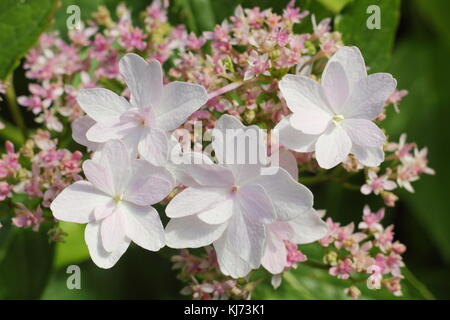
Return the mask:
{"type": "MultiPolygon", "coordinates": [[[[358,231],[353,223],[341,226],[328,218],[329,232],[319,243],[326,248],[324,263],[329,266],[330,275],[353,282],[366,279],[369,289],[384,287],[398,296],[402,294],[402,254],[406,247],[394,241],[393,225],[384,228],[380,224],[383,218],[383,208],[371,212],[365,206],[358,231]],[[365,274],[369,277],[364,277],[365,274]]],[[[360,294],[354,286],[346,292],[351,298],[360,294]]]]}

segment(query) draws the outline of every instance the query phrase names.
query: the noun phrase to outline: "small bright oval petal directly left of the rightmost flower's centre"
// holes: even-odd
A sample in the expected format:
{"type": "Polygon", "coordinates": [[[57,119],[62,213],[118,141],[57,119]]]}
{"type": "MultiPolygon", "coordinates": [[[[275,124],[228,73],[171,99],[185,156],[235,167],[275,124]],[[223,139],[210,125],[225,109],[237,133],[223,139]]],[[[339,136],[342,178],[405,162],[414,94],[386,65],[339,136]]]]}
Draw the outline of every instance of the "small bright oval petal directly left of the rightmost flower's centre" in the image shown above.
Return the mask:
{"type": "Polygon", "coordinates": [[[320,134],[330,124],[332,116],[321,109],[305,109],[294,113],[290,123],[294,129],[306,134],[320,134]]]}

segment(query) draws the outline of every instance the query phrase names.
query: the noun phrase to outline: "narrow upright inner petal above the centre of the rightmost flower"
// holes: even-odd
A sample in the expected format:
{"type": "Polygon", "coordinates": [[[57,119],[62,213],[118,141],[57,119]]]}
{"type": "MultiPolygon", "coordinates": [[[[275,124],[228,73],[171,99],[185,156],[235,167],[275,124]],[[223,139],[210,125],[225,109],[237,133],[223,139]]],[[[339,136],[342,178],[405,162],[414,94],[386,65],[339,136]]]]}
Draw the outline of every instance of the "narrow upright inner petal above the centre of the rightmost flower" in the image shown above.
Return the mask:
{"type": "Polygon", "coordinates": [[[349,83],[342,65],[336,61],[328,62],[321,83],[332,109],[336,114],[341,114],[342,107],[350,95],[349,83]]]}

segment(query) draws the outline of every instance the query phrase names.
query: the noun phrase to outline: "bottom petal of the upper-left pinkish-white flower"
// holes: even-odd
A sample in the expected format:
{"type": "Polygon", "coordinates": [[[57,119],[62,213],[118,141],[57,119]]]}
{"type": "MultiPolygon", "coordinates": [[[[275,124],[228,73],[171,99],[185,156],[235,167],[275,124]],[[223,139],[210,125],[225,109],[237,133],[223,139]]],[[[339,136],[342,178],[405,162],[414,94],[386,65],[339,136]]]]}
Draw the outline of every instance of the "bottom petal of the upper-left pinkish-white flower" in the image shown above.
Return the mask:
{"type": "Polygon", "coordinates": [[[165,165],[169,159],[169,138],[159,129],[146,128],[139,141],[138,150],[151,164],[165,165]]]}

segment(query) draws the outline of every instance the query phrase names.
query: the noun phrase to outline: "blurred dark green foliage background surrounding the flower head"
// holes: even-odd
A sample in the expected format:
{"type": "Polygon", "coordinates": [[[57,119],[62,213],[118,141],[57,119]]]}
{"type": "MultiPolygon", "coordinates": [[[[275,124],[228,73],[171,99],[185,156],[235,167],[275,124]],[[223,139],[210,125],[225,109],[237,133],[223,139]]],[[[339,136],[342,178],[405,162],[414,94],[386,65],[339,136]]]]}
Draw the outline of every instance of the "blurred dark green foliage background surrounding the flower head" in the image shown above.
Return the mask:
{"type": "MultiPolygon", "coordinates": [[[[66,8],[77,4],[83,19],[87,19],[98,5],[111,11],[116,0],[25,1],[27,10],[15,13],[15,0],[0,0],[0,78],[16,65],[14,57],[23,55],[36,43],[37,36],[49,27],[65,30],[66,8]],[[6,10],[8,8],[8,12],[6,10]],[[50,16],[54,23],[49,24],[50,16]],[[31,22],[30,22],[31,21],[31,22]],[[3,23],[3,24],[2,24],[3,23]],[[5,50],[15,41],[8,33],[7,24],[23,31],[14,50],[5,50]],[[25,32],[26,31],[26,32],[25,32]]],[[[137,18],[151,1],[124,1],[137,18]]],[[[194,31],[210,30],[216,23],[231,15],[238,4],[244,7],[272,7],[281,12],[287,0],[172,0],[170,19],[174,24],[184,23],[194,31]]],[[[361,48],[371,71],[391,72],[398,80],[399,89],[409,95],[401,103],[401,112],[390,110],[383,126],[392,141],[408,133],[409,141],[420,147],[429,147],[430,166],[435,176],[424,176],[414,184],[415,194],[399,193],[401,201],[388,209],[385,223],[394,223],[396,237],[408,247],[405,262],[404,298],[425,299],[433,296],[450,298],[450,170],[448,170],[450,88],[450,2],[447,0],[297,0],[297,5],[310,10],[318,20],[336,17],[335,28],[343,32],[345,44],[361,48]],[[366,8],[377,4],[381,8],[381,30],[368,30],[366,8]],[[414,276],[412,275],[414,274],[414,276]],[[431,294],[430,294],[431,292],[431,294]]],[[[137,21],[137,19],[136,19],[137,21]]],[[[298,31],[310,31],[309,18],[298,31]]],[[[27,80],[19,67],[14,71],[17,94],[27,94],[27,80]]],[[[392,109],[392,108],[391,108],[392,109]]],[[[3,102],[3,119],[12,122],[12,115],[3,102]]],[[[26,125],[36,127],[31,114],[26,125]]],[[[0,131],[0,139],[20,143],[19,134],[12,129],[0,131]]],[[[3,143],[2,143],[3,144],[3,143]]],[[[362,183],[362,177],[357,182],[362,183]]],[[[380,199],[366,197],[338,185],[313,188],[316,208],[326,208],[327,215],[342,223],[359,221],[362,208],[369,203],[372,209],[383,206],[380,199]]],[[[162,208],[160,208],[162,209],[162,208]]],[[[0,206],[1,211],[8,210],[0,206]]],[[[97,268],[90,261],[83,241],[84,226],[63,224],[69,234],[66,243],[48,245],[46,230],[3,228],[0,230],[0,298],[42,299],[131,299],[182,298],[183,287],[171,270],[169,257],[174,250],[164,249],[150,253],[132,246],[117,265],[110,270],[97,268]],[[66,267],[81,267],[82,290],[68,290],[66,267]]],[[[304,249],[314,255],[314,246],[304,249]]],[[[255,298],[261,299],[335,299],[343,298],[343,281],[334,279],[321,270],[301,266],[290,272],[278,291],[269,284],[258,287],[255,298]]],[[[395,298],[390,293],[364,290],[364,298],[395,298]]]]}

